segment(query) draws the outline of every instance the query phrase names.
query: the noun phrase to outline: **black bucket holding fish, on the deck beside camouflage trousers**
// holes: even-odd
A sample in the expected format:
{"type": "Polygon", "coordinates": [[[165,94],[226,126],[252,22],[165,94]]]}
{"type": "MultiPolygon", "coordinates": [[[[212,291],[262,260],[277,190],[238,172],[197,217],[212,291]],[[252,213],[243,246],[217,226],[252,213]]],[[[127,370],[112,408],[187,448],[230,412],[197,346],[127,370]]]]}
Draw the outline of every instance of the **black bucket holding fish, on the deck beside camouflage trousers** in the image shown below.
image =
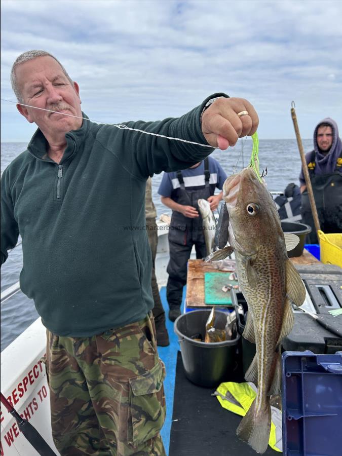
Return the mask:
{"type": "MultiPolygon", "coordinates": [[[[236,368],[236,351],[240,335],[232,340],[206,343],[191,337],[200,334],[204,339],[205,325],[211,309],[191,311],[180,315],[174,324],[186,377],[196,385],[217,387],[233,377],[236,368]]],[[[215,327],[224,329],[227,314],[215,311],[215,327]]]]}

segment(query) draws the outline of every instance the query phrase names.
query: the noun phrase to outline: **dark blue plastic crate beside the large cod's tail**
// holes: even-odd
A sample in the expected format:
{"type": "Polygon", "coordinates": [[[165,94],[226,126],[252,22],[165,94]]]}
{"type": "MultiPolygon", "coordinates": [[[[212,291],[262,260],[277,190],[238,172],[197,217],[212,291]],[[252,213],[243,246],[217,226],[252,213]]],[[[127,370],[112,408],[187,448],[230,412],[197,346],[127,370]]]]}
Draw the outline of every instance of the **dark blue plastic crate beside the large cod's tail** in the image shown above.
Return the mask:
{"type": "Polygon", "coordinates": [[[284,454],[342,454],[342,352],[284,352],[282,367],[284,454]]]}

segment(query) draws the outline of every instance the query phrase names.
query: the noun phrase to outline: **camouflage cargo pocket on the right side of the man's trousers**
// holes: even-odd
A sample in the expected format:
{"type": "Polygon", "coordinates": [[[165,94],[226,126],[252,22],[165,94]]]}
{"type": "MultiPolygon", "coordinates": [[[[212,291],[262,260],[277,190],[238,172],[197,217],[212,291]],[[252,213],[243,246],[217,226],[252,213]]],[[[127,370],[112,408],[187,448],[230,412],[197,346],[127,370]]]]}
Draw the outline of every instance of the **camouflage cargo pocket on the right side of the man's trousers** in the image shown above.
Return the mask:
{"type": "Polygon", "coordinates": [[[166,413],[164,378],[165,366],[159,360],[150,371],[129,379],[131,426],[128,441],[134,446],[153,438],[162,429],[166,413]]]}

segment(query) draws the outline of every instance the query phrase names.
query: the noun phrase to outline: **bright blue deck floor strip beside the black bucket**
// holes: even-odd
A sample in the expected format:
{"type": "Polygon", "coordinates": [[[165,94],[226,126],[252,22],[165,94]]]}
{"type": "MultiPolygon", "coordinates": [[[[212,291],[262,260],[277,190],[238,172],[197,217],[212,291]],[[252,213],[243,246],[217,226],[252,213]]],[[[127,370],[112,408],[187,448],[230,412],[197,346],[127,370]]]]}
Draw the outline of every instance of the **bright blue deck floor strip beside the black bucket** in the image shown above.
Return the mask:
{"type": "MultiPolygon", "coordinates": [[[[183,290],[183,300],[181,306],[181,312],[184,309],[186,287],[183,290]]],[[[177,351],[179,350],[178,338],[173,330],[173,322],[169,320],[169,307],[166,300],[166,288],[162,287],[160,290],[160,297],[162,299],[163,307],[165,310],[166,327],[170,337],[170,345],[168,347],[158,347],[159,357],[163,360],[166,367],[166,378],[164,381],[165,397],[166,397],[166,419],[162,429],[162,438],[166,450],[166,454],[169,454],[170,445],[170,431],[171,431],[171,420],[172,420],[172,408],[173,408],[173,394],[175,388],[175,377],[176,377],[176,360],[177,351]]]]}

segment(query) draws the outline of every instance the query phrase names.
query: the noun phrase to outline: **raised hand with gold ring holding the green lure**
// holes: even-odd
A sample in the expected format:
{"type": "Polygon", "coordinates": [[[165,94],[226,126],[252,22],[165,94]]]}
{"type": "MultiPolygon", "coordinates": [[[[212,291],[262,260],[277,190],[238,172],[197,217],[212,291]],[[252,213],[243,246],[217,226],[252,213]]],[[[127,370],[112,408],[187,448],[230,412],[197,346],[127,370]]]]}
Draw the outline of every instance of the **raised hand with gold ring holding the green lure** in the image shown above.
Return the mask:
{"type": "Polygon", "coordinates": [[[202,115],[202,132],[208,144],[225,150],[239,138],[251,136],[259,125],[258,115],[244,98],[218,98],[202,115]],[[239,117],[238,113],[248,115],[239,117]]]}

